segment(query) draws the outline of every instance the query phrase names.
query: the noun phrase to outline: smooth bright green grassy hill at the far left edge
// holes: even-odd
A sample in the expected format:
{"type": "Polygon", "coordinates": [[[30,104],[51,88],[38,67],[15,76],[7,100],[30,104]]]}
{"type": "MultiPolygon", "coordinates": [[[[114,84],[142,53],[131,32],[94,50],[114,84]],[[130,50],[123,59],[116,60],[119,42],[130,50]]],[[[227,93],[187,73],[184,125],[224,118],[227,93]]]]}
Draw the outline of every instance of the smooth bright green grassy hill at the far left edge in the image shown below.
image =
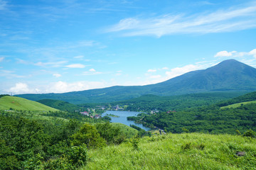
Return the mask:
{"type": "Polygon", "coordinates": [[[25,111],[58,111],[36,101],[29,101],[25,98],[14,96],[3,96],[0,98],[0,110],[25,110],[25,111]]]}

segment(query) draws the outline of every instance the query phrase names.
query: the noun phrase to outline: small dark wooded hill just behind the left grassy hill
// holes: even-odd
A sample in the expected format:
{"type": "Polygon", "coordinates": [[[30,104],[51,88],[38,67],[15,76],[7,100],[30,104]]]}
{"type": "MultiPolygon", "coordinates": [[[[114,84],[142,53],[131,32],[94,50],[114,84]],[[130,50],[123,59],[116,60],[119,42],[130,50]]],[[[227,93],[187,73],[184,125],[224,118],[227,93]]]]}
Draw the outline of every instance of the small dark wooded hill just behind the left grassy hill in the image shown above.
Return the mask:
{"type": "Polygon", "coordinates": [[[51,99],[43,99],[40,101],[37,101],[38,103],[42,103],[46,106],[50,106],[51,108],[57,108],[60,111],[79,111],[80,107],[65,101],[57,101],[57,100],[51,100],[51,99]]]}

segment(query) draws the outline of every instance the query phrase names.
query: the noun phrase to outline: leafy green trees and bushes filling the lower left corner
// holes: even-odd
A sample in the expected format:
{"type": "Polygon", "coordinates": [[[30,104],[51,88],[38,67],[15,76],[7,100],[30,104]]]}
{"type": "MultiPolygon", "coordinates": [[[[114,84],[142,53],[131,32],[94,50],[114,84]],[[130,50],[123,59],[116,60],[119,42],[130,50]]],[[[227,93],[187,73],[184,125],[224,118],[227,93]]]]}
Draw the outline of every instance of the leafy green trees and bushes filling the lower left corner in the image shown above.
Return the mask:
{"type": "Polygon", "coordinates": [[[128,138],[109,122],[92,125],[0,113],[0,169],[78,169],[87,162],[87,149],[118,145],[128,138]]]}

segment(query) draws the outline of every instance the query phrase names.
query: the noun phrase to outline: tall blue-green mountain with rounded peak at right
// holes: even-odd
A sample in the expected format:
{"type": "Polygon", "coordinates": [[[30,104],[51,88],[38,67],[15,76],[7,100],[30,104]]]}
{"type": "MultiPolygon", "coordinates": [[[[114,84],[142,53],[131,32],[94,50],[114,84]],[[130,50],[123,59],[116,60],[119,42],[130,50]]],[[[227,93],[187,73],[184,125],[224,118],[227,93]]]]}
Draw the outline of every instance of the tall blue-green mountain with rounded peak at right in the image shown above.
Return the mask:
{"type": "Polygon", "coordinates": [[[208,69],[188,72],[151,86],[153,91],[170,95],[202,91],[254,91],[256,69],[236,60],[225,60],[208,69]]]}

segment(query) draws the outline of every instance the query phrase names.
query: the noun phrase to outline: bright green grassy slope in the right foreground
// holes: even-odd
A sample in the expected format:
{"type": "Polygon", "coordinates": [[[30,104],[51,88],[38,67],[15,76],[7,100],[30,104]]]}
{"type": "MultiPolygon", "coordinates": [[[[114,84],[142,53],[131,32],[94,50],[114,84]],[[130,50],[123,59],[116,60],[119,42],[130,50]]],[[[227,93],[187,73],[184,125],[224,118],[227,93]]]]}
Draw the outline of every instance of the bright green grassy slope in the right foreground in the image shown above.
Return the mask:
{"type": "Polygon", "coordinates": [[[81,169],[256,169],[255,138],[184,133],[143,137],[139,149],[132,143],[88,151],[81,169]]]}

